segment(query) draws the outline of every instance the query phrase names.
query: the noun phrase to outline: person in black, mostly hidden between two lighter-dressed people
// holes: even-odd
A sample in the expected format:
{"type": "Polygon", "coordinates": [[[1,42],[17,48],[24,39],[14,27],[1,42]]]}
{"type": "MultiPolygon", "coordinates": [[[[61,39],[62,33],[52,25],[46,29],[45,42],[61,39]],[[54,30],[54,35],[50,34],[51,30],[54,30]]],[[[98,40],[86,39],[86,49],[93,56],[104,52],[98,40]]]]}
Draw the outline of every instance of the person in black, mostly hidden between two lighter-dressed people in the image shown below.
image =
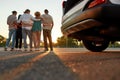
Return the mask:
{"type": "MultiPolygon", "coordinates": [[[[18,20],[20,19],[20,16],[21,15],[18,16],[18,20]]],[[[22,48],[22,23],[21,22],[17,25],[15,48],[17,50],[21,50],[22,48]]]]}

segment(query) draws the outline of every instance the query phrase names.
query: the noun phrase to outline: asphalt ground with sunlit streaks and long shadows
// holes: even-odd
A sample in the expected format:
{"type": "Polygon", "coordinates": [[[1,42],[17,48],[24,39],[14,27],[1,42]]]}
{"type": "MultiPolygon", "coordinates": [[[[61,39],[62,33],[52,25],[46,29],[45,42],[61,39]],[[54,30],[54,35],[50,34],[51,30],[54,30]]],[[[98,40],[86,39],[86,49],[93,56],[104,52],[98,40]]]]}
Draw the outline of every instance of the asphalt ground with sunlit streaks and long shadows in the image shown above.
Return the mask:
{"type": "Polygon", "coordinates": [[[85,48],[54,51],[4,51],[0,80],[119,80],[120,49],[90,52],[85,48]]]}

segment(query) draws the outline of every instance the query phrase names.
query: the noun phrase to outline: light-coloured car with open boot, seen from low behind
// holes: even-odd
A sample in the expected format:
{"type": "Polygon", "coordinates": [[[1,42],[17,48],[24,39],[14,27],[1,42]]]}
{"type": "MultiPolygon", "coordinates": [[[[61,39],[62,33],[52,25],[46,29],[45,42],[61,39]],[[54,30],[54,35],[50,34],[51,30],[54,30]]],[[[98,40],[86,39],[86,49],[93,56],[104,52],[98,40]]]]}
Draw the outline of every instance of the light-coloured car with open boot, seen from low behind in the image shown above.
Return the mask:
{"type": "Polygon", "coordinates": [[[120,41],[120,0],[63,1],[61,32],[93,52],[120,41]]]}

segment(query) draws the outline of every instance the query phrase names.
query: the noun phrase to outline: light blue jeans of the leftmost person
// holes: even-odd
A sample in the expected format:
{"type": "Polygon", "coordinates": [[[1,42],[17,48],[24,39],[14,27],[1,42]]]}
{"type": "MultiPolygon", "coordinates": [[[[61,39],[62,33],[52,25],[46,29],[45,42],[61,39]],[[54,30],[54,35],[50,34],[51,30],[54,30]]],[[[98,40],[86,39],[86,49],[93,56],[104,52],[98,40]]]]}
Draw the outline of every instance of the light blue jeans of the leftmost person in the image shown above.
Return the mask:
{"type": "Polygon", "coordinates": [[[11,41],[11,38],[12,38],[12,45],[11,45],[11,48],[14,48],[15,46],[15,37],[16,37],[16,29],[9,29],[9,36],[8,36],[8,39],[6,41],[6,48],[10,45],[10,41],[11,41]]]}

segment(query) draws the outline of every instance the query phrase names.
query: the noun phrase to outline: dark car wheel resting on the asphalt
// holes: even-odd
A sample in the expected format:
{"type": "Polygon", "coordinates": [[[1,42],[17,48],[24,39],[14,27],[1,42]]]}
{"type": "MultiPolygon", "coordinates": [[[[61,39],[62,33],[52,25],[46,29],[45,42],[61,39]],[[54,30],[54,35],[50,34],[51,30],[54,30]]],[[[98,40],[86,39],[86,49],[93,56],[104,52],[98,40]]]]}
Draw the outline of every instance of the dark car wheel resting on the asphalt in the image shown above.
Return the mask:
{"type": "Polygon", "coordinates": [[[102,42],[94,42],[94,41],[83,40],[83,44],[90,51],[101,52],[108,47],[109,41],[105,40],[102,42]]]}

